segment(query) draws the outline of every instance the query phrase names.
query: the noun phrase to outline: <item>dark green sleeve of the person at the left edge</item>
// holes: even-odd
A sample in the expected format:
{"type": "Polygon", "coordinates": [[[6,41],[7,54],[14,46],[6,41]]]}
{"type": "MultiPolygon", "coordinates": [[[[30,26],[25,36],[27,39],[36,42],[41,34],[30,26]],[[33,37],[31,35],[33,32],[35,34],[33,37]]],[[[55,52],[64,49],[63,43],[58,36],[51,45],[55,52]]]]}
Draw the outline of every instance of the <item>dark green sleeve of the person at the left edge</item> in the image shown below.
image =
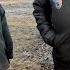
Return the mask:
{"type": "Polygon", "coordinates": [[[11,39],[11,35],[9,32],[9,28],[7,25],[7,21],[6,21],[6,17],[5,17],[5,11],[2,8],[1,9],[2,14],[1,14],[1,23],[2,23],[2,33],[3,33],[3,37],[5,40],[5,44],[6,44],[6,55],[8,59],[12,59],[13,58],[13,42],[11,39]]]}

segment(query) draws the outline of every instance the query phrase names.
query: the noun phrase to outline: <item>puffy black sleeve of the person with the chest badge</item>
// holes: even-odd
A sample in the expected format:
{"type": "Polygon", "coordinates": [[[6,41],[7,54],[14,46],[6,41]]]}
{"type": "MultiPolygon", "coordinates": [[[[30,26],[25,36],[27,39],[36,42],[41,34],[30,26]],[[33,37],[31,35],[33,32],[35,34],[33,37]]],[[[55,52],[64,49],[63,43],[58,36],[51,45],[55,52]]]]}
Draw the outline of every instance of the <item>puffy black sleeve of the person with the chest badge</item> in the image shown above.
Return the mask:
{"type": "Polygon", "coordinates": [[[51,45],[55,33],[51,23],[51,5],[50,0],[34,0],[33,15],[37,22],[37,28],[45,43],[51,45]]]}

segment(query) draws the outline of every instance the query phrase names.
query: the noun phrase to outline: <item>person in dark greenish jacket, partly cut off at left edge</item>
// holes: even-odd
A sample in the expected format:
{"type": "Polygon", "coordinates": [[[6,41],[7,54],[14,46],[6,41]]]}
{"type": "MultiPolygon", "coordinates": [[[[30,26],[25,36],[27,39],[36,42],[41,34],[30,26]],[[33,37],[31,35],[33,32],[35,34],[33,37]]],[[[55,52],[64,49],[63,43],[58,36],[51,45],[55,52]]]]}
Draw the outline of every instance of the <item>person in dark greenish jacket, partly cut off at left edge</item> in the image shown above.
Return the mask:
{"type": "Polygon", "coordinates": [[[0,70],[9,68],[9,59],[13,58],[13,42],[7,25],[5,10],[0,5],[0,70]]]}

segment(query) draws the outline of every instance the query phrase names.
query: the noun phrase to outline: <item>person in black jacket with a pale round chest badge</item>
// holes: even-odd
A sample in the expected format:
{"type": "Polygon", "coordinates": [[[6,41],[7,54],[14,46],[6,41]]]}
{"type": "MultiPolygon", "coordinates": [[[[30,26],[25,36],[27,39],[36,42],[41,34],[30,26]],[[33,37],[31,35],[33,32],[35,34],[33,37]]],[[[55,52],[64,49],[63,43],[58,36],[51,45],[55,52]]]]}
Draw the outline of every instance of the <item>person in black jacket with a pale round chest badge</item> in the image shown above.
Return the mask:
{"type": "Polygon", "coordinates": [[[60,1],[34,0],[33,15],[44,42],[53,47],[54,70],[70,70],[70,0],[60,1]]]}

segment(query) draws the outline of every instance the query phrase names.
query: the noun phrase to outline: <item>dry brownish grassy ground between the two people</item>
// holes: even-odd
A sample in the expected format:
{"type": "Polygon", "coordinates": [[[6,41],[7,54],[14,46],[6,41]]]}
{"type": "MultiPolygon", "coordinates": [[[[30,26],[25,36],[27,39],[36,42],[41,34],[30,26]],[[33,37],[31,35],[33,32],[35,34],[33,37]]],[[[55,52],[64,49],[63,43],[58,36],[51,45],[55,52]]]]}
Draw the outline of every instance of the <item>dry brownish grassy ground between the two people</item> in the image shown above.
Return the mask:
{"type": "Polygon", "coordinates": [[[51,70],[52,48],[45,44],[32,15],[33,0],[0,0],[14,42],[9,70],[51,70]]]}

